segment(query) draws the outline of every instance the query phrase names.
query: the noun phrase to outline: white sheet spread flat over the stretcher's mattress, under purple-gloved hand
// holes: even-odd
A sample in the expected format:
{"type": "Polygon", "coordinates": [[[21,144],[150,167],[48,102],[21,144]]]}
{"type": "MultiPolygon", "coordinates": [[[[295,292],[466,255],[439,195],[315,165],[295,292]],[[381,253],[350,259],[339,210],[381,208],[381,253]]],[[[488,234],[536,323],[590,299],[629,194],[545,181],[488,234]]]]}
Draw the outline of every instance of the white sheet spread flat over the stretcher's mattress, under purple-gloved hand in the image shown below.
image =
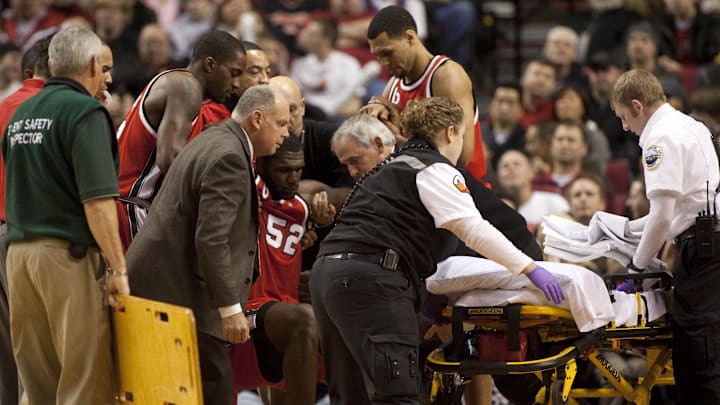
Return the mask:
{"type": "MultiPolygon", "coordinates": [[[[548,305],[569,310],[581,332],[588,332],[615,320],[617,325],[637,325],[635,294],[615,291],[610,302],[602,278],[574,264],[538,262],[553,273],[565,294],[565,301],[554,305],[524,276],[514,276],[502,265],[488,259],[453,256],[441,263],[425,280],[428,291],[450,297],[452,305],[499,306],[507,304],[548,305]]],[[[648,321],[665,314],[662,291],[644,292],[648,321]]]]}

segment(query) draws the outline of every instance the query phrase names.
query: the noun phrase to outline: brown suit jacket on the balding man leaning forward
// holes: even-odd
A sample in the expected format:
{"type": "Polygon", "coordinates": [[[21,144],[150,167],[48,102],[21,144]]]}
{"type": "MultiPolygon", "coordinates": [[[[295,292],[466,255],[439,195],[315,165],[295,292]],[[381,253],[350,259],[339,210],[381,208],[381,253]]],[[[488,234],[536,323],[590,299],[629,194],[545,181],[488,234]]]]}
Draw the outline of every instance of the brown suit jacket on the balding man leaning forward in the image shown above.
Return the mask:
{"type": "Polygon", "coordinates": [[[223,339],[219,307],[245,304],[257,255],[250,145],[232,119],[177,155],[127,252],[133,295],[189,307],[223,339]]]}

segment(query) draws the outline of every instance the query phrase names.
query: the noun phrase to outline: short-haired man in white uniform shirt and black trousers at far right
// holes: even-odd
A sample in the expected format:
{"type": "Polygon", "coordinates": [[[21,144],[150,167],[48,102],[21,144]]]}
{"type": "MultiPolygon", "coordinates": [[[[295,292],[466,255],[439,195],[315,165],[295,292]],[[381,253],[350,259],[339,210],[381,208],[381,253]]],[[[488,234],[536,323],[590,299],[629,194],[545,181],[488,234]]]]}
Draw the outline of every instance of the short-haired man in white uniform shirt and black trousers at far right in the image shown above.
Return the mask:
{"type": "MultiPolygon", "coordinates": [[[[714,231],[718,156],[710,132],[666,103],[660,82],[631,70],[615,84],[612,107],[640,136],[650,213],[629,271],[642,271],[662,244],[680,250],[673,301],[673,367],[680,404],[720,403],[720,234],[714,231]]],[[[627,284],[626,284],[627,285],[627,284]]]]}

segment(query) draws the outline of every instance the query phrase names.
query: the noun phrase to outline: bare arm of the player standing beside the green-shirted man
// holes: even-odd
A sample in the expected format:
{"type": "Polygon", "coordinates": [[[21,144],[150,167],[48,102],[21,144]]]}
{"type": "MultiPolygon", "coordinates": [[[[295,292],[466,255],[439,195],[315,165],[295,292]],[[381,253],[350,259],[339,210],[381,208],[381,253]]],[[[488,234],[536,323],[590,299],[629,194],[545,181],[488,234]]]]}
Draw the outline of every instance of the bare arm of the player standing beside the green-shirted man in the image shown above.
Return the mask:
{"type": "Polygon", "coordinates": [[[163,173],[187,143],[202,97],[202,87],[191,73],[173,72],[158,80],[145,100],[150,124],[157,128],[156,163],[163,173]]]}

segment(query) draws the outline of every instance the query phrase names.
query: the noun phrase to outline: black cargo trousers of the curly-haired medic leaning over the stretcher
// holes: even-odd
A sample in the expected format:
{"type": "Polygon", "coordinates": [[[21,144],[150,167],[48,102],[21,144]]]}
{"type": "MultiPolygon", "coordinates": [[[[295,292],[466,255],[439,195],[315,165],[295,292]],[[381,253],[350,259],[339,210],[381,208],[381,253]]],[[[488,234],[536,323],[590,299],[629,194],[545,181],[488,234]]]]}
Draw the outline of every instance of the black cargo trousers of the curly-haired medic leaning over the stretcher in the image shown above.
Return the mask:
{"type": "Polygon", "coordinates": [[[315,262],[313,310],[333,405],[419,404],[415,291],[400,271],[315,262]]]}

